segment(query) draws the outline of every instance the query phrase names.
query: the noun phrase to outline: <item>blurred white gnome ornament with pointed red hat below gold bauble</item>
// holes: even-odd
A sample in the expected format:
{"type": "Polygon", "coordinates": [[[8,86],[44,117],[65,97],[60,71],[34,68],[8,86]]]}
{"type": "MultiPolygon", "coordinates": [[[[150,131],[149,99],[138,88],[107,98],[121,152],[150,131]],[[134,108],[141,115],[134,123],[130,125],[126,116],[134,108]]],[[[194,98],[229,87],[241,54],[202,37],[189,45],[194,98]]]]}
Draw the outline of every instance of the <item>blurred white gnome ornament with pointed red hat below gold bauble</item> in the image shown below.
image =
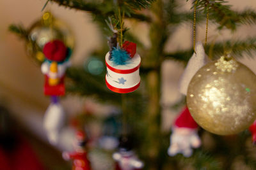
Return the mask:
{"type": "Polygon", "coordinates": [[[198,148],[201,145],[197,129],[198,125],[186,107],[175,120],[168,155],[172,157],[177,153],[182,153],[184,157],[190,157],[193,153],[192,148],[198,148]]]}

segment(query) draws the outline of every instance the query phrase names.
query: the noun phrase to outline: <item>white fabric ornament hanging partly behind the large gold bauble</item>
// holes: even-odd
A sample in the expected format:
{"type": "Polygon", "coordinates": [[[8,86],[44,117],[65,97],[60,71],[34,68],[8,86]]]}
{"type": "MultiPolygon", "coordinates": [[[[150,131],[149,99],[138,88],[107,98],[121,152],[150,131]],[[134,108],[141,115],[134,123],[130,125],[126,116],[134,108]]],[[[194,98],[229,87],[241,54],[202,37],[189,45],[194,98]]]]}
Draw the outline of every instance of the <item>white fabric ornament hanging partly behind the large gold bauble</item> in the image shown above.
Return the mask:
{"type": "Polygon", "coordinates": [[[187,96],[189,82],[198,69],[204,66],[207,62],[208,57],[204,52],[204,46],[202,45],[202,42],[197,42],[195,45],[195,52],[191,59],[189,59],[188,65],[180,78],[179,91],[181,94],[187,96]]]}

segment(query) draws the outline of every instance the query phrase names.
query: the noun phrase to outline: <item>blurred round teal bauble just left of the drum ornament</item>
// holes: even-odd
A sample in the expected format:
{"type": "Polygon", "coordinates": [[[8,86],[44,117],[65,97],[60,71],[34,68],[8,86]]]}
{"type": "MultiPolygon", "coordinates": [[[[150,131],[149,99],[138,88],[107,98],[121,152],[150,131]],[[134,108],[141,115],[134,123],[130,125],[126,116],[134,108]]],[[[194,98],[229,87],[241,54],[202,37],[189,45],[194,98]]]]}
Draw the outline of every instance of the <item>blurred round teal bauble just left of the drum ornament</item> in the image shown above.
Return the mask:
{"type": "Polygon", "coordinates": [[[84,62],[84,69],[93,75],[103,73],[104,64],[97,57],[90,57],[84,62]]]}

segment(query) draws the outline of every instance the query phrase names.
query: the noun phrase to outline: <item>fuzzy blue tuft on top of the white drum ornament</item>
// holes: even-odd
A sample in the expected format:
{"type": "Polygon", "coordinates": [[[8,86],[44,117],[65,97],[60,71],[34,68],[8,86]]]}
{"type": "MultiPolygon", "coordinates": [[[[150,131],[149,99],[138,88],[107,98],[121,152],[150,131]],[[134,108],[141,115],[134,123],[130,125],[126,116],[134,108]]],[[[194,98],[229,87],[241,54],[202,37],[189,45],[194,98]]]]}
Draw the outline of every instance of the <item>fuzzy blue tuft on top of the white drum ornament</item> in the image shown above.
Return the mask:
{"type": "Polygon", "coordinates": [[[113,60],[115,65],[127,64],[127,60],[131,59],[129,53],[125,50],[113,47],[111,52],[111,60],[113,60]]]}

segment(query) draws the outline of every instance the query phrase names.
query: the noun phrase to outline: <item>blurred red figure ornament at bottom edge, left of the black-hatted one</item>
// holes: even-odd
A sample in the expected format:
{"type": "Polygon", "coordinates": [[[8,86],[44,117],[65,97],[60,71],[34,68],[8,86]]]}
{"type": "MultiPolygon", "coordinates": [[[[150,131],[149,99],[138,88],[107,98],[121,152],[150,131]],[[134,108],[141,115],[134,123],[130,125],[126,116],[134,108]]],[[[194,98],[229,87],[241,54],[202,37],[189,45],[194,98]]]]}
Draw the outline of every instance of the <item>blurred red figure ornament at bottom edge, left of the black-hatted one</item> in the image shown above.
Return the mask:
{"type": "Polygon", "coordinates": [[[90,161],[87,158],[85,145],[87,143],[84,131],[77,131],[74,139],[74,153],[63,152],[62,156],[65,160],[73,160],[74,170],[91,170],[90,161]]]}

